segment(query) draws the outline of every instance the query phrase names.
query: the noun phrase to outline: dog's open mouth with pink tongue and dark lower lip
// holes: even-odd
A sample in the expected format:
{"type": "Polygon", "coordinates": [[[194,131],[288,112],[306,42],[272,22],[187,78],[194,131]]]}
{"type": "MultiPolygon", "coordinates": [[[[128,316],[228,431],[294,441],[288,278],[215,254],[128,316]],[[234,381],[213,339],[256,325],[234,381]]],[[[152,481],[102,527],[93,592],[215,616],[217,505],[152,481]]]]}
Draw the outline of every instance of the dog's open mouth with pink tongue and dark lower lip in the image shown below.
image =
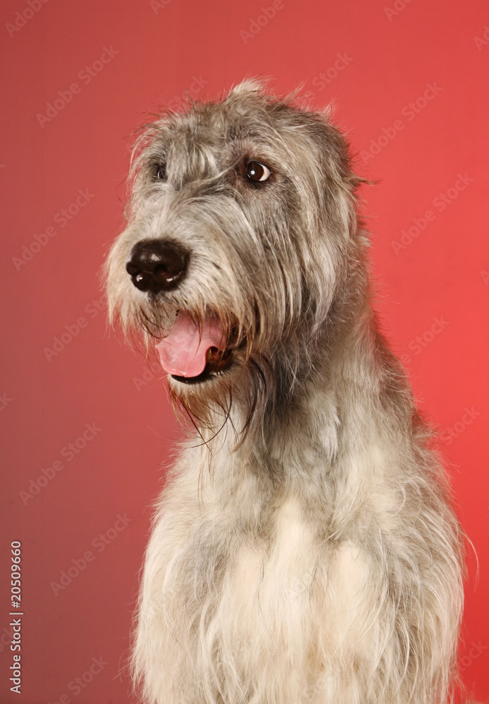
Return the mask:
{"type": "Polygon", "coordinates": [[[218,318],[200,325],[185,313],[178,313],[168,335],[156,345],[163,370],[178,382],[199,384],[221,375],[233,364],[237,348],[235,330],[230,334],[218,318]]]}

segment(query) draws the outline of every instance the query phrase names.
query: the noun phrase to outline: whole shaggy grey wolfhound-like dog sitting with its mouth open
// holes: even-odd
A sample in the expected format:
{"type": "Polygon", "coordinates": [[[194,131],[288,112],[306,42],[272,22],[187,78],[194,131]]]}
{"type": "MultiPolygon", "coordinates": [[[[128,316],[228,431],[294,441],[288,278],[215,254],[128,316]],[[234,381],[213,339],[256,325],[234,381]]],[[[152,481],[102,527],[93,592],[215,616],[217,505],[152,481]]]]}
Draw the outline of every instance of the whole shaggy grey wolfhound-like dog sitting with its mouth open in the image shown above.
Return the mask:
{"type": "Polygon", "coordinates": [[[462,534],[371,309],[347,144],[247,81],[147,127],[111,315],[196,428],[159,499],[132,670],[158,704],[444,703],[462,534]]]}

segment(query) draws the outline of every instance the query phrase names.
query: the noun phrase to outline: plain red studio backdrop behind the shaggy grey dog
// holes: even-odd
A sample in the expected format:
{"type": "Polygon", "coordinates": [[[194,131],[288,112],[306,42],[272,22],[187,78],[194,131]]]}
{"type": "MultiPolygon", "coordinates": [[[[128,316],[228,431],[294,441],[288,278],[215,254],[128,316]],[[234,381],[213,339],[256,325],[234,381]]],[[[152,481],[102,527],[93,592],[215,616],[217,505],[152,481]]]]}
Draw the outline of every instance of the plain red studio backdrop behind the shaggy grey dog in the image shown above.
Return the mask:
{"type": "Polygon", "coordinates": [[[1,702],[54,704],[63,694],[77,704],[130,700],[120,670],[149,505],[180,429],[164,382],[138,384],[144,359],[107,331],[104,311],[94,315],[97,309],[87,306],[101,296],[99,269],[123,227],[133,128],[159,104],[175,106],[187,89],[204,98],[248,75],[273,77],[278,92],[304,82],[314,106],[333,99],[335,120],[359,154],[358,170],[378,180],[363,191],[376,305],[423,412],[446,437],[457,424],[445,451],[479,560],[477,579],[469,553],[462,670],[469,693],[483,700],[489,689],[487,4],[283,0],[266,18],[261,8],[271,0],[50,0],[40,9],[40,0],[31,2],[35,11],[26,11],[27,0],[5,2],[0,21],[1,702]],[[394,4],[394,12],[386,11],[394,4]],[[16,20],[23,26],[12,29],[16,20]],[[113,49],[111,61],[94,64],[104,47],[113,49]],[[341,70],[334,68],[338,54],[347,56],[341,70]],[[87,65],[94,76],[85,83],[79,74],[86,80],[87,65]],[[323,86],[321,73],[330,81],[323,86]],[[73,82],[79,92],[49,121],[39,118],[73,82]],[[428,83],[438,94],[424,105],[428,83]],[[418,101],[413,119],[411,101],[418,101]],[[396,120],[401,130],[392,127],[396,120]],[[388,144],[380,139],[376,156],[366,156],[371,140],[392,130],[388,144]],[[459,174],[465,183],[458,181],[457,191],[459,174]],[[76,201],[79,189],[88,189],[89,202],[62,227],[56,214],[76,201]],[[447,196],[452,202],[441,210],[433,201],[447,193],[457,197],[447,196]],[[426,210],[432,221],[395,251],[392,243],[426,210]],[[19,264],[23,247],[35,235],[44,241],[48,227],[56,234],[19,264]],[[80,316],[85,327],[50,356],[46,348],[66,325],[75,330],[80,316]],[[435,318],[442,325],[432,331],[435,318]],[[97,436],[68,460],[63,448],[87,423],[100,429],[97,436]],[[63,470],[23,501],[20,492],[56,460],[63,470]],[[111,531],[118,514],[128,525],[111,531]],[[99,545],[97,536],[108,530],[98,552],[92,541],[99,545]],[[21,696],[8,691],[13,540],[23,543],[21,696]],[[94,560],[55,596],[51,582],[86,551],[94,560]],[[101,673],[80,693],[70,690],[100,657],[101,673]]]}

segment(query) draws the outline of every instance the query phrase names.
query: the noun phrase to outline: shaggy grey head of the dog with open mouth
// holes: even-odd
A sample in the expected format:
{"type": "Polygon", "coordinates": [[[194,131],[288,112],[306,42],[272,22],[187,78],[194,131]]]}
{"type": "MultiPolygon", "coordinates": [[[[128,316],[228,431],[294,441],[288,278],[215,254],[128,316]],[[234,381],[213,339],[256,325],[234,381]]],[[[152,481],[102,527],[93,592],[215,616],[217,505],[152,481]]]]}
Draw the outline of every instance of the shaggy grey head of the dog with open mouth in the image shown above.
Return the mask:
{"type": "Polygon", "coordinates": [[[191,410],[231,396],[249,410],[278,376],[290,386],[356,232],[358,180],[338,130],[245,82],[154,122],[132,174],[107,265],[111,313],[156,346],[191,410]]]}

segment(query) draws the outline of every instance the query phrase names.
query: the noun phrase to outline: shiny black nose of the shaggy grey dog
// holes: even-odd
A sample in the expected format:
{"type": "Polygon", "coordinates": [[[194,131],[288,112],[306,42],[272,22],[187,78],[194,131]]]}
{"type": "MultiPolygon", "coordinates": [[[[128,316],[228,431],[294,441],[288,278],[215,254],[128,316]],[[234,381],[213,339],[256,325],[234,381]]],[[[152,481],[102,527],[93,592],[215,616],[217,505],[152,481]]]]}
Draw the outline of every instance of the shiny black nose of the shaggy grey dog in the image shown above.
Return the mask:
{"type": "Polygon", "coordinates": [[[185,275],[188,253],[175,242],[143,240],[132,247],[125,269],[140,291],[170,291],[185,275]]]}

